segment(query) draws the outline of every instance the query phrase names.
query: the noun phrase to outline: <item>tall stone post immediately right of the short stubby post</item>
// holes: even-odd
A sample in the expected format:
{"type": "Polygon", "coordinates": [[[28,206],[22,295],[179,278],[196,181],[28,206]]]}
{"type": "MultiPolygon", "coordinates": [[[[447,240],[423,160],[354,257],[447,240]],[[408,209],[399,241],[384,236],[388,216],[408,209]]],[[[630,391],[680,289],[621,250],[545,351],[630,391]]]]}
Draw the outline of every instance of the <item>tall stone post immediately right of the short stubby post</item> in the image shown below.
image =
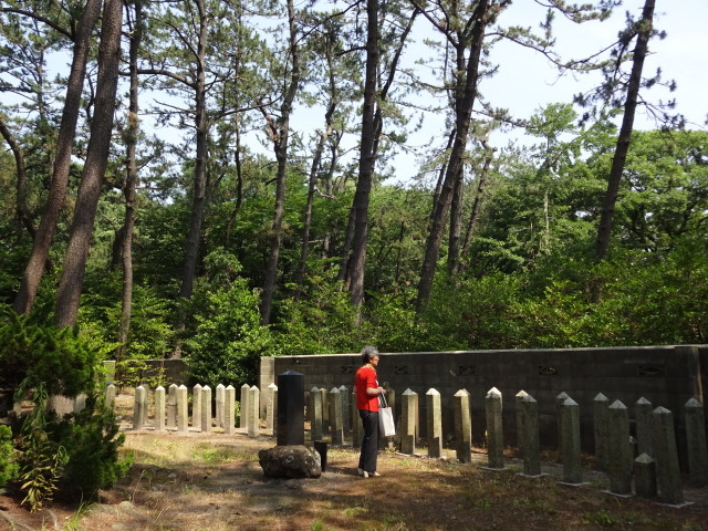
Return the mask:
{"type": "Polygon", "coordinates": [[[676,451],[674,415],[665,407],[657,407],[652,416],[654,418],[652,427],[659,498],[666,503],[678,506],[684,502],[684,491],[676,451]]]}

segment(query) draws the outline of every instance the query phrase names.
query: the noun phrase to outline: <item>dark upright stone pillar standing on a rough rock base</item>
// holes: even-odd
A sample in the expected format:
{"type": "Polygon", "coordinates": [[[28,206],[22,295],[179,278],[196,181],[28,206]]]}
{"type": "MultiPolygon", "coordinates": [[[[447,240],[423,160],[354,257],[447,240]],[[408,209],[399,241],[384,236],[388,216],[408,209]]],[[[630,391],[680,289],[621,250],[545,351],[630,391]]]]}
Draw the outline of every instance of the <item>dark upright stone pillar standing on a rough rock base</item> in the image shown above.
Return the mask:
{"type": "Polygon", "coordinates": [[[278,446],[305,444],[304,382],[294,371],[278,375],[278,446]]]}

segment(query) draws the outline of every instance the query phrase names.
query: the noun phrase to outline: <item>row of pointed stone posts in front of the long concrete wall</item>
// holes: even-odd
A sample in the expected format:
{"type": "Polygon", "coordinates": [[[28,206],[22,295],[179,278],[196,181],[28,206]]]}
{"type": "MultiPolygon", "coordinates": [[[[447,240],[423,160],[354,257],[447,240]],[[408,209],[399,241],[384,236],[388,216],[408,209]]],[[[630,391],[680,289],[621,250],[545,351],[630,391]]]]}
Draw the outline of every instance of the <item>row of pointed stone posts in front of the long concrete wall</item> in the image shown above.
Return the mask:
{"type": "MultiPolygon", "coordinates": [[[[356,415],[356,398],[351,395],[351,416],[346,399],[350,397],[345,386],[326,389],[313,387],[309,393],[308,412],[311,421],[311,440],[321,440],[327,431],[332,444],[343,444],[345,421],[351,421],[352,445],[361,445],[361,424],[356,415]],[[325,414],[329,416],[325,417],[325,414]],[[325,420],[326,418],[326,420],[325,420]]],[[[406,389],[400,397],[402,415],[398,424],[399,449],[404,454],[415,454],[418,426],[418,395],[406,389]]],[[[442,455],[442,415],[440,394],[429,389],[425,396],[427,418],[428,457],[442,455]]],[[[389,391],[389,405],[395,404],[395,393],[389,391]],[[393,399],[391,399],[393,398],[393,399]]],[[[540,450],[539,405],[525,392],[516,395],[517,405],[517,446],[523,460],[523,475],[542,476],[540,450]]],[[[670,504],[684,502],[676,435],[671,412],[664,407],[653,408],[645,398],[636,404],[636,441],[638,457],[634,459],[634,439],[629,435],[629,415],[627,407],[620,400],[610,403],[598,394],[593,400],[594,438],[596,467],[607,473],[608,492],[615,496],[632,496],[634,477],[637,496],[659,498],[670,504]],[[658,487],[658,489],[657,489],[658,487]]],[[[485,397],[487,419],[486,441],[488,464],[485,468],[500,470],[504,468],[502,396],[491,388],[485,397]]],[[[559,460],[563,466],[562,482],[571,486],[584,485],[580,437],[580,406],[566,393],[556,397],[559,460]]],[[[457,458],[461,462],[471,461],[471,414],[470,394],[460,389],[454,396],[455,444],[457,458]]],[[[686,438],[688,441],[689,480],[693,485],[708,485],[708,448],[704,410],[694,398],[685,406],[686,438]]]]}

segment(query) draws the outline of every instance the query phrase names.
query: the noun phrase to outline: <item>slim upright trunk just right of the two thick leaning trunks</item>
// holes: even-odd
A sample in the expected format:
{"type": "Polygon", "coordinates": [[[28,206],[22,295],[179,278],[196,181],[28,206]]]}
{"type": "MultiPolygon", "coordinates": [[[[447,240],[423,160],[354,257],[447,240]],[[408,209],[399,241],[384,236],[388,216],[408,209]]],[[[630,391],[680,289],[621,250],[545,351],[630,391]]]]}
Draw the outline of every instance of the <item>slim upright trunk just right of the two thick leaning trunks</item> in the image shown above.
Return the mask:
{"type": "Polygon", "coordinates": [[[123,301],[121,305],[121,324],[118,326],[118,348],[116,361],[125,358],[131,316],[133,313],[133,231],[135,228],[135,188],[137,186],[137,136],[138,124],[138,81],[137,61],[140,40],[143,38],[143,0],[135,0],[135,24],[133,27],[129,51],[131,90],[128,104],[128,126],[126,142],[127,168],[123,195],[125,196],[125,220],[123,223],[123,301]]]}

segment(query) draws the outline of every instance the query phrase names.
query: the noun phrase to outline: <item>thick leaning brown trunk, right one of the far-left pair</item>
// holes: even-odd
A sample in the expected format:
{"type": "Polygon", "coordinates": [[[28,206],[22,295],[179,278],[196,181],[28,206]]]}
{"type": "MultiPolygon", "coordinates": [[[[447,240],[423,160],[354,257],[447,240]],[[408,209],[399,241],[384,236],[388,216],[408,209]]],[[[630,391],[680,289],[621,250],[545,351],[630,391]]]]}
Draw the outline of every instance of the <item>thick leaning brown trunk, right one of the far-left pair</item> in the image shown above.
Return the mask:
{"type": "Polygon", "coordinates": [[[98,80],[96,101],[91,123],[91,139],[76,197],[74,219],[62,277],[56,294],[55,320],[58,326],[75,324],[79,299],[83,288],[91,233],[101,196],[103,177],[108,163],[108,149],[113,133],[113,115],[116,105],[118,63],[121,59],[121,25],[123,2],[106,0],[101,25],[98,49],[98,80]]]}

